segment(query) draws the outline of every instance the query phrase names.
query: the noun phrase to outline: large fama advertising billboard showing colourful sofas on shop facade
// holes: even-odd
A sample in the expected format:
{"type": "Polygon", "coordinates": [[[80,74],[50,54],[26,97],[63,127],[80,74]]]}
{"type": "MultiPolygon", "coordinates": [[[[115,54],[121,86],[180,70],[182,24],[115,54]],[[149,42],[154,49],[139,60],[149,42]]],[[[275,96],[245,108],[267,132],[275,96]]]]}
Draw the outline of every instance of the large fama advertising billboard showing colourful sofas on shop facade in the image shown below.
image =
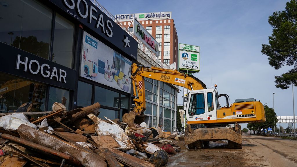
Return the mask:
{"type": "Polygon", "coordinates": [[[80,76],[130,93],[131,61],[83,32],[80,76]]]}

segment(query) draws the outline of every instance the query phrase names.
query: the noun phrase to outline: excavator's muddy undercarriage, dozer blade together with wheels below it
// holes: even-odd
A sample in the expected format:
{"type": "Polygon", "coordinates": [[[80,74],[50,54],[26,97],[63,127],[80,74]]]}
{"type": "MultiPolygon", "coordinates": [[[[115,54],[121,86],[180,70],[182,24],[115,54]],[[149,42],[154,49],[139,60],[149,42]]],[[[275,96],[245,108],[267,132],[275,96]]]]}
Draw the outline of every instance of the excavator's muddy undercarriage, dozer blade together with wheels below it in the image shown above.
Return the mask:
{"type": "Polygon", "coordinates": [[[185,144],[190,149],[209,146],[209,141],[228,140],[229,148],[242,148],[241,126],[199,128],[185,136],[185,144]]]}

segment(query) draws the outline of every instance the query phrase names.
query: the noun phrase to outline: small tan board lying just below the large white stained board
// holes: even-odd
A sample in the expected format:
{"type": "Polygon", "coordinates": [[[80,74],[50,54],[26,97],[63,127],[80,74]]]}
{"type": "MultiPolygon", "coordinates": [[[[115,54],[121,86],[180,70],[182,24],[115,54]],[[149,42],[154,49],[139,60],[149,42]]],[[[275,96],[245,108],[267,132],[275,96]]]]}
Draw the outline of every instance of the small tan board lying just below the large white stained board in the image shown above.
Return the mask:
{"type": "Polygon", "coordinates": [[[101,148],[119,148],[121,145],[110,135],[91,136],[94,142],[101,148]]]}

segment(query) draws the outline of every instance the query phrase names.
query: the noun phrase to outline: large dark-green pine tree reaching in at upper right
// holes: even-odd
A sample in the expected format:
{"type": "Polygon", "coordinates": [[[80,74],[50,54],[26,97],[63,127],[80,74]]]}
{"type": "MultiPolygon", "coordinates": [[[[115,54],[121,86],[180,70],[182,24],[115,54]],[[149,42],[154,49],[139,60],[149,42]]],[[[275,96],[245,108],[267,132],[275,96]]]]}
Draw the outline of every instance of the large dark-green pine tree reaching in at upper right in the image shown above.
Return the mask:
{"type": "Polygon", "coordinates": [[[268,18],[273,27],[269,44],[262,44],[262,54],[268,56],[269,64],[276,70],[293,66],[282,75],[275,76],[277,88],[287,89],[290,84],[297,86],[297,0],[286,3],[286,10],[274,12],[268,18]]]}

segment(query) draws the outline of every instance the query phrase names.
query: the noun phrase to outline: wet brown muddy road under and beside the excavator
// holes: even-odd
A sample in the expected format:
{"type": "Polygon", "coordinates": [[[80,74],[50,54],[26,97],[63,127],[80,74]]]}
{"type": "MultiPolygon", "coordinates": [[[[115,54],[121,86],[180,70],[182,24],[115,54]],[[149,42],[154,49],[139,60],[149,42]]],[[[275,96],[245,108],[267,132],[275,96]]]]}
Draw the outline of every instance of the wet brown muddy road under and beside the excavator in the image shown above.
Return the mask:
{"type": "Polygon", "coordinates": [[[242,149],[228,149],[224,141],[208,149],[183,149],[166,166],[186,167],[297,167],[297,141],[243,135],[242,149]]]}

